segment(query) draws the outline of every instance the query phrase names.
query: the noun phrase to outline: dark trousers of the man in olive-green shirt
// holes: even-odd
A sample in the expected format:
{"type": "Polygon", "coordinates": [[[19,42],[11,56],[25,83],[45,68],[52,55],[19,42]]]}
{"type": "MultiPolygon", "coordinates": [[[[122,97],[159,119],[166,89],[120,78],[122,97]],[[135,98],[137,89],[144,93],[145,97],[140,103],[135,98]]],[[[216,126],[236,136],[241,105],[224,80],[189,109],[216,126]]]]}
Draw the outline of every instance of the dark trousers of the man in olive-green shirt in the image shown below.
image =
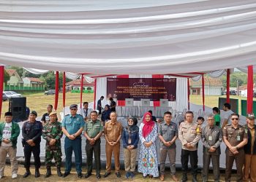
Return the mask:
{"type": "Polygon", "coordinates": [[[90,145],[89,141],[86,140],[86,163],[87,163],[87,173],[92,171],[92,157],[94,154],[95,170],[96,173],[100,173],[101,162],[100,162],[100,139],[97,140],[93,146],[90,145]]]}

